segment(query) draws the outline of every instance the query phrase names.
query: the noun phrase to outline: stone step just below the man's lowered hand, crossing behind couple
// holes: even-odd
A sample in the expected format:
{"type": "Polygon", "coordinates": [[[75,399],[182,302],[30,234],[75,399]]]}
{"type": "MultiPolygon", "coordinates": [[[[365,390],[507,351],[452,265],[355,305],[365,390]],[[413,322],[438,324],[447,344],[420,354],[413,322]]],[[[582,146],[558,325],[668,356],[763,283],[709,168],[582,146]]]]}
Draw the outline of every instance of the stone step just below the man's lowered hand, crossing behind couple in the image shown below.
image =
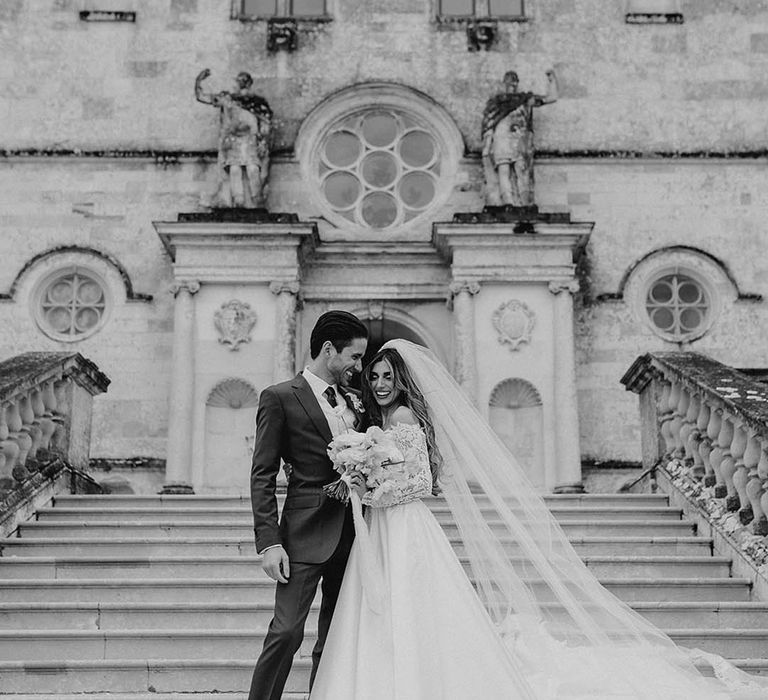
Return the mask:
{"type": "MultiPolygon", "coordinates": [[[[627,601],[746,601],[750,583],[743,578],[631,578],[600,577],[601,583],[627,601]]],[[[209,578],[187,579],[2,579],[3,602],[206,602],[269,603],[274,583],[268,579],[225,579],[212,592],[209,578]]],[[[539,586],[538,583],[533,583],[539,586]]]]}

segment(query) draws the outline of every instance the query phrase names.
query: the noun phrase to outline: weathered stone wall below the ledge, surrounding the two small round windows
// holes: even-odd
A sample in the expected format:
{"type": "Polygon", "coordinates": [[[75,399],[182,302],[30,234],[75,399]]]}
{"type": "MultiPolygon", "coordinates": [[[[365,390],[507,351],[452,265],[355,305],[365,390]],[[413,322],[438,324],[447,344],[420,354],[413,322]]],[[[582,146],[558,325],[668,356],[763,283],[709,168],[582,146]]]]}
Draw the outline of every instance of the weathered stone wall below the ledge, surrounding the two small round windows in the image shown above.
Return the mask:
{"type": "MultiPolygon", "coordinates": [[[[278,163],[276,177],[291,180],[297,167],[278,163]]],[[[478,166],[467,166],[472,167],[478,166]]],[[[32,288],[45,263],[25,266],[47,250],[95,249],[124,268],[134,293],[152,296],[128,301],[124,292],[118,295],[104,329],[76,344],[113,379],[108,394],[95,401],[95,457],[164,454],[173,297],[170,258],[152,221],[195,209],[210,186],[209,175],[192,160],[168,168],[142,159],[17,158],[0,168],[0,293],[13,290],[11,299],[0,302],[6,329],[0,356],[72,347],[42,334],[30,314],[32,288]]],[[[698,249],[721,261],[734,283],[732,292],[726,290],[711,331],[690,347],[734,366],[766,366],[765,303],[737,296],[768,295],[763,254],[768,169],[753,160],[550,159],[537,164],[537,178],[542,208],[568,208],[574,220],[596,222],[585,296],[577,300],[582,451],[598,460],[637,459],[636,398],[618,380],[638,354],[675,346],[638,317],[642,300],[620,296],[622,281],[639,260],[670,246],[698,249]]],[[[467,208],[482,206],[479,190],[463,196],[467,208]]],[[[299,207],[298,213],[309,218],[317,212],[299,207]]],[[[110,281],[116,290],[123,288],[117,273],[110,281]]],[[[631,284],[625,287],[631,291],[631,284]]],[[[488,318],[478,319],[484,332],[481,362],[483,347],[497,345],[489,324],[488,318]]],[[[211,332],[208,323],[204,333],[211,332]]],[[[501,360],[525,353],[535,360],[527,346],[515,355],[500,352],[501,360]]],[[[508,375],[503,367],[498,371],[499,377],[508,375]]]]}

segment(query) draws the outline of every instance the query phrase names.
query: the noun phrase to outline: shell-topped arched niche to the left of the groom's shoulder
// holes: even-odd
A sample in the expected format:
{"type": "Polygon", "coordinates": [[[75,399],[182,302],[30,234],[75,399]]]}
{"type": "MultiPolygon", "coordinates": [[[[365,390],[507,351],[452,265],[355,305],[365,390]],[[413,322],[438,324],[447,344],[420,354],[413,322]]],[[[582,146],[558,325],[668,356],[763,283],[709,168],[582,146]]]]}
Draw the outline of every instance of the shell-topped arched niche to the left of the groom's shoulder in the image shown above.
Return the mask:
{"type": "Polygon", "coordinates": [[[258,405],[258,392],[244,379],[224,379],[208,393],[203,491],[248,493],[258,405]]]}

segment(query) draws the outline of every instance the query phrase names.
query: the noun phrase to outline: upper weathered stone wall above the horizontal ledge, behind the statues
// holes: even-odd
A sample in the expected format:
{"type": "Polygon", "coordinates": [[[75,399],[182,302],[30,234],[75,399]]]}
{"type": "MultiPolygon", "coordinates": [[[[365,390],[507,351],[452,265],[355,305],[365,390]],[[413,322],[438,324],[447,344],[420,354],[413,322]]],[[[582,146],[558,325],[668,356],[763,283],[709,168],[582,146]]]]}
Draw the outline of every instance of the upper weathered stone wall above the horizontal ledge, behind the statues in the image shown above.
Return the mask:
{"type": "Polygon", "coordinates": [[[329,0],[333,20],[300,31],[294,54],[266,51],[266,23],[230,19],[229,0],[103,2],[136,23],[82,22],[79,0],[0,7],[4,149],[212,149],[215,110],[195,102],[197,72],[231,89],[250,71],[289,148],[306,114],[335,90],[403,83],[444,105],[470,150],[480,114],[515,68],[542,91],[554,66],[561,99],[540,110],[551,151],[750,151],[765,148],[768,2],[685,3],[682,25],[627,25],[616,0],[527,3],[488,52],[439,27],[433,0],[329,0]]]}

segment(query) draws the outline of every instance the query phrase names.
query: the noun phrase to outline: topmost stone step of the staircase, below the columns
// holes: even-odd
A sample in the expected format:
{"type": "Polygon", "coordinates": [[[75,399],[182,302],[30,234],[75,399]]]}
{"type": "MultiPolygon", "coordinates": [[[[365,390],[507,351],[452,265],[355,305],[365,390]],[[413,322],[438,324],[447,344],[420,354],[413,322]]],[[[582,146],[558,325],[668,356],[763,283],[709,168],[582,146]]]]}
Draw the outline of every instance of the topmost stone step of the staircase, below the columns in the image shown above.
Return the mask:
{"type": "MultiPolygon", "coordinates": [[[[278,492],[278,501],[285,496],[278,492]]],[[[482,505],[486,496],[476,496],[482,505]]],[[[545,494],[544,502],[553,508],[561,505],[590,505],[590,506],[638,506],[663,507],[669,505],[669,498],[664,494],[545,494]]],[[[430,498],[427,504],[445,503],[443,497],[430,498]]],[[[176,495],[146,495],[130,494],[109,495],[69,495],[62,494],[53,499],[54,507],[77,508],[243,508],[250,512],[250,496],[176,496],[176,495]]]]}

